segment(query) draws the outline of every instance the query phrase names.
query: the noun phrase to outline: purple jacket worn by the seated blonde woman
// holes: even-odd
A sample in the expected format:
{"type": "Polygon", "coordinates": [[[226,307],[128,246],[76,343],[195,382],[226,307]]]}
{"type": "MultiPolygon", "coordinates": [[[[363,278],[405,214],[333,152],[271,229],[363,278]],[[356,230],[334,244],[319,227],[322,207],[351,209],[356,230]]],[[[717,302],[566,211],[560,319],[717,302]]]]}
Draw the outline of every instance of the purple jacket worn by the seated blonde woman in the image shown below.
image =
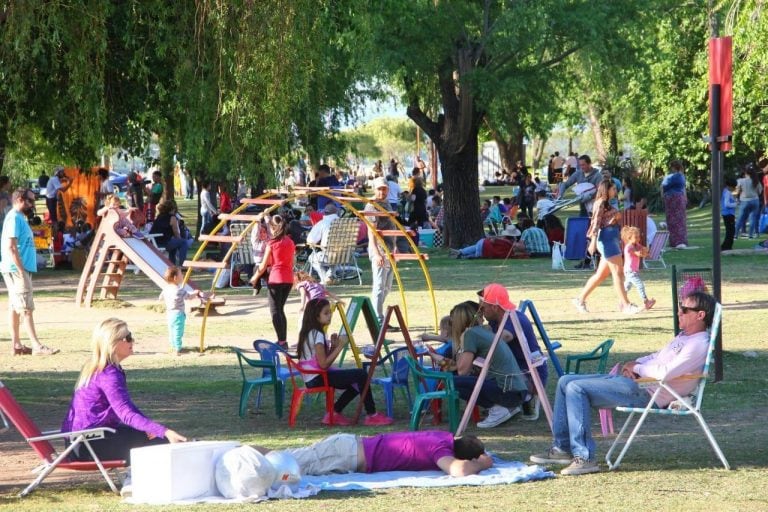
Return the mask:
{"type": "Polygon", "coordinates": [[[119,366],[107,365],[91,377],[88,384],[76,389],[62,432],[94,427],[117,428],[122,425],[165,437],[166,427],[155,423],[133,404],[125,382],[125,372],[119,366]]]}

